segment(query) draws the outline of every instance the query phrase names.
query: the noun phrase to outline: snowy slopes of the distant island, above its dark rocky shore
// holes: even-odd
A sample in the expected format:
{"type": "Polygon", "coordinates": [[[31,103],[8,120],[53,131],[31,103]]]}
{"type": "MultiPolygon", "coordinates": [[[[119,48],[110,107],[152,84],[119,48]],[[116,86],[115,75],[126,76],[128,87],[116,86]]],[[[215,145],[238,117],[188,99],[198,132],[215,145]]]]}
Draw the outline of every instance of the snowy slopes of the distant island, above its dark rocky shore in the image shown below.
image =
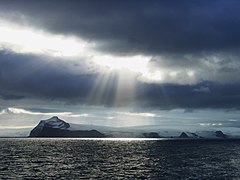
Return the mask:
{"type": "MultiPolygon", "coordinates": [[[[155,133],[158,134],[160,137],[174,137],[178,138],[182,133],[185,133],[189,138],[225,138],[225,137],[236,137],[230,134],[226,134],[217,130],[198,130],[198,131],[191,131],[191,130],[179,130],[179,129],[166,129],[160,126],[133,126],[133,127],[110,127],[110,126],[96,126],[96,125],[87,125],[87,124],[70,124],[66,123],[65,121],[59,119],[57,116],[54,116],[47,120],[42,120],[40,123],[31,131],[31,135],[34,136],[38,134],[43,127],[51,127],[57,128],[61,130],[69,130],[69,131],[78,131],[78,130],[97,130],[107,137],[116,137],[116,138],[136,138],[136,137],[144,137],[144,134],[148,133],[155,133]],[[222,136],[221,136],[222,135],[222,136]]],[[[229,132],[229,131],[228,131],[229,132]]],[[[236,132],[236,131],[235,131],[236,132]]]]}

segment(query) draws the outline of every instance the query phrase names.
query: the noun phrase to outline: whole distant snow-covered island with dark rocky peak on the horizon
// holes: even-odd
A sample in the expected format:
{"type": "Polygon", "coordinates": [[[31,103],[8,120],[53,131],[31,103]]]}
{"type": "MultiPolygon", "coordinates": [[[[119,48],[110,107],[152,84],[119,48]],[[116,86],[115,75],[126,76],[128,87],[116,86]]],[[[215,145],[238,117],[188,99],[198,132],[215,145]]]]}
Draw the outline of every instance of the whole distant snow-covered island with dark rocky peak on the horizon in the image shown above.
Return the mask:
{"type": "Polygon", "coordinates": [[[163,131],[152,132],[134,128],[116,128],[104,126],[92,126],[81,124],[70,124],[53,116],[47,120],[41,120],[34,127],[29,137],[61,137],[61,138],[229,138],[222,131],[198,131],[198,132],[176,132],[163,131]]]}

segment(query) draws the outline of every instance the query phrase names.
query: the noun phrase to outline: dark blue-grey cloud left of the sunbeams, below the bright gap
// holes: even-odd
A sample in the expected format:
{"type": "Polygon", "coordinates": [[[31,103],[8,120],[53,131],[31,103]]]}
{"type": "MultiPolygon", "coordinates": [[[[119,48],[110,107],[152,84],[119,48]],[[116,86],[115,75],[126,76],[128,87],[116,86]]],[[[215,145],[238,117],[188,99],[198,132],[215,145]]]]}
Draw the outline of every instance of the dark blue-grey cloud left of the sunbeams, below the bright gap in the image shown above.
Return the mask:
{"type": "Polygon", "coordinates": [[[53,99],[83,96],[91,86],[94,75],[70,74],[64,70],[69,64],[65,66],[62,63],[46,57],[1,54],[1,90],[53,99]]]}

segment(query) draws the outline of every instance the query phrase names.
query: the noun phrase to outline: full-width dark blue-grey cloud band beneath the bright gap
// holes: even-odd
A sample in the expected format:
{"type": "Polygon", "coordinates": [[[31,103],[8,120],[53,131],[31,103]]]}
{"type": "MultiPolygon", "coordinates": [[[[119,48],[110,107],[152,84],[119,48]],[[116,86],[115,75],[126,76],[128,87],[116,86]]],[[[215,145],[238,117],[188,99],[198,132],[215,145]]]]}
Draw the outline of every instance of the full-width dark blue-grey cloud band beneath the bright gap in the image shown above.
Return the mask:
{"type": "Polygon", "coordinates": [[[134,93],[128,94],[128,87],[121,87],[124,93],[116,102],[120,80],[117,73],[69,73],[64,69],[71,64],[61,61],[53,63],[52,60],[42,58],[39,61],[29,55],[1,54],[0,98],[45,99],[46,102],[58,100],[68,104],[105,106],[134,105],[160,109],[240,107],[239,83],[223,85],[201,82],[195,85],[174,85],[135,81],[134,93]],[[106,78],[103,83],[102,80],[106,78]]]}

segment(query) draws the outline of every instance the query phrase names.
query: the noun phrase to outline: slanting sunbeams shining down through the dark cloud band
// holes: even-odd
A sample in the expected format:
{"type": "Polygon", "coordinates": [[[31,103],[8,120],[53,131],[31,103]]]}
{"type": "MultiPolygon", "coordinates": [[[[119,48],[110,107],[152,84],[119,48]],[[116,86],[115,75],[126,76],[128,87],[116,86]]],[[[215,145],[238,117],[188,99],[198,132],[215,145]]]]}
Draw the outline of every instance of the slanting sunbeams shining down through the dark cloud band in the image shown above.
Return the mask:
{"type": "Polygon", "coordinates": [[[135,103],[137,75],[131,71],[114,71],[99,74],[88,94],[88,102],[107,106],[122,106],[135,103]]]}

